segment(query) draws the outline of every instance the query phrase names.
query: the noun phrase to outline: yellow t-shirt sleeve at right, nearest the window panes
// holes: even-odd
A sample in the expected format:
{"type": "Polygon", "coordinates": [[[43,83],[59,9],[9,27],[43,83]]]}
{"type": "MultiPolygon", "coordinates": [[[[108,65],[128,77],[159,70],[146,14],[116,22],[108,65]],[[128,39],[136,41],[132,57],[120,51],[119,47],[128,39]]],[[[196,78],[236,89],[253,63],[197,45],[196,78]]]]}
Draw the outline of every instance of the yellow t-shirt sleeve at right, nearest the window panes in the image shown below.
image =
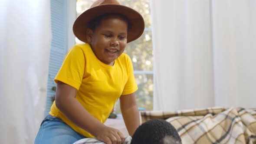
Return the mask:
{"type": "Polygon", "coordinates": [[[138,89],[138,85],[135,81],[134,73],[133,73],[133,66],[129,56],[127,56],[127,68],[128,68],[128,80],[125,84],[125,88],[122,92],[122,95],[129,95],[134,93],[138,89]]]}

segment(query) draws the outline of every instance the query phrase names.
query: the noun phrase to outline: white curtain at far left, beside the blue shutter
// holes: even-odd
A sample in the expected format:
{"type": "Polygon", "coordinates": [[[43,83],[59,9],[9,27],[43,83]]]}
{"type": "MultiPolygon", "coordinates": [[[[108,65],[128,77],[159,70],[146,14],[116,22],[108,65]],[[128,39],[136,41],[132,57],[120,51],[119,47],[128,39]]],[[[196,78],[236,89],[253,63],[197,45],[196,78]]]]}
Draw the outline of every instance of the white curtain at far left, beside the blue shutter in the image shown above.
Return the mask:
{"type": "Polygon", "coordinates": [[[34,144],[51,37],[50,0],[0,1],[0,144],[34,144]]]}

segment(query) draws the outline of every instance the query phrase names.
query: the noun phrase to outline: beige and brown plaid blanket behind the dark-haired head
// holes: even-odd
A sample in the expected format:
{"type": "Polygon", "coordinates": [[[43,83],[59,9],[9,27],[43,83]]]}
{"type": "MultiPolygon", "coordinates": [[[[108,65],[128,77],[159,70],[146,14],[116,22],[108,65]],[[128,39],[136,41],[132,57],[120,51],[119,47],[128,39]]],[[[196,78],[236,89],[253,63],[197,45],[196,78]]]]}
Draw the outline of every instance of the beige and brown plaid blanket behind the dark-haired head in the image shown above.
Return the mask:
{"type": "Polygon", "coordinates": [[[153,118],[170,122],[183,144],[256,144],[256,109],[140,111],[140,118],[141,123],[153,118]]]}

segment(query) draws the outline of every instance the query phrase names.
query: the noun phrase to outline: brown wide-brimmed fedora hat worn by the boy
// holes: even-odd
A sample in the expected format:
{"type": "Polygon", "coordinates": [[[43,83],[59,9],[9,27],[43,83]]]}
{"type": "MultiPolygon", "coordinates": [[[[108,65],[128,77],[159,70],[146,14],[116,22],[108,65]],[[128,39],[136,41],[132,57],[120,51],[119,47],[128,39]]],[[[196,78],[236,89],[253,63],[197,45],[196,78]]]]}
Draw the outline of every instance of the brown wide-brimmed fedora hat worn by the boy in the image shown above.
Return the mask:
{"type": "Polygon", "coordinates": [[[75,36],[81,41],[88,43],[86,38],[88,23],[96,17],[107,13],[118,13],[126,16],[131,24],[131,28],[128,29],[127,43],[138,39],[144,32],[144,20],[136,10],[120,5],[117,0],[97,0],[90,9],[83,12],[75,20],[73,25],[75,36]]]}

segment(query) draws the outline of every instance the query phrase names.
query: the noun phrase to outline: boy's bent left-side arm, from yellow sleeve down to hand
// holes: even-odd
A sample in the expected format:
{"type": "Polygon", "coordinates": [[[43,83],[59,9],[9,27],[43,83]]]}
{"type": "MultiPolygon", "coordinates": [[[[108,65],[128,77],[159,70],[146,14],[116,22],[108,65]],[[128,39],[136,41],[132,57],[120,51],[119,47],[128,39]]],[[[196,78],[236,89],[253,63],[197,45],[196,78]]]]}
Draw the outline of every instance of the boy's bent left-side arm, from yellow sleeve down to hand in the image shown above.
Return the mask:
{"type": "Polygon", "coordinates": [[[77,90],[63,82],[58,82],[56,87],[56,107],[74,124],[88,131],[107,144],[121,144],[124,141],[123,134],[114,128],[109,128],[94,118],[75,99],[77,90]]]}

